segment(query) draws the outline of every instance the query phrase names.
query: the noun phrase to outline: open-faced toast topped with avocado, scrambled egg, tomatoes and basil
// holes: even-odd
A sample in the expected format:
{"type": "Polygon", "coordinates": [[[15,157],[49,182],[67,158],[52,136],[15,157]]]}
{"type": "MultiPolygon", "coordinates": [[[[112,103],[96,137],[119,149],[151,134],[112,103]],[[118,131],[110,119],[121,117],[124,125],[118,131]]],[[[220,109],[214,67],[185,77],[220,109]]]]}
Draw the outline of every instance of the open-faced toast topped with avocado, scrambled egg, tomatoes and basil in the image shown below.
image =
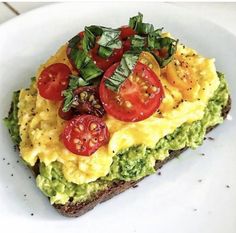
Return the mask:
{"type": "Polygon", "coordinates": [[[51,204],[80,216],[201,145],[229,109],[214,59],[138,14],[69,40],[14,93],[5,123],[51,204]]]}

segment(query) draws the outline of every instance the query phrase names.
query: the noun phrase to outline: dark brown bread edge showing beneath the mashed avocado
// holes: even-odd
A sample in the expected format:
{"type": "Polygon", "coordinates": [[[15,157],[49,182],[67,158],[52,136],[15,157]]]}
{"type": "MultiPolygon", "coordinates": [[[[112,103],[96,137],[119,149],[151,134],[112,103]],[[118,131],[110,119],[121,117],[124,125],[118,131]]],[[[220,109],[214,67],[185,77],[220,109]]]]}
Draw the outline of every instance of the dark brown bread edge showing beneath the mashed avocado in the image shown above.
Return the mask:
{"type": "MultiPolygon", "coordinates": [[[[222,117],[225,119],[226,116],[228,115],[229,111],[231,109],[231,99],[230,97],[228,98],[227,105],[222,109],[222,117]]],[[[214,129],[217,125],[213,127],[209,127],[207,129],[207,133],[214,129]]],[[[178,157],[183,151],[187,150],[188,148],[183,148],[181,150],[176,150],[176,151],[170,151],[170,156],[166,158],[163,161],[156,161],[155,169],[158,170],[160,167],[162,167],[165,163],[168,161],[172,160],[173,158],[178,157]]],[[[143,179],[143,178],[142,178],[143,179]]],[[[101,191],[97,193],[92,200],[85,201],[82,203],[72,203],[68,202],[65,205],[61,204],[54,204],[53,206],[62,214],[67,217],[79,217],[89,210],[93,209],[97,204],[102,203],[104,201],[107,201],[111,199],[112,197],[118,195],[119,193],[124,192],[125,190],[135,186],[139,181],[117,181],[113,182],[110,187],[108,187],[106,190],[101,191]]]]}

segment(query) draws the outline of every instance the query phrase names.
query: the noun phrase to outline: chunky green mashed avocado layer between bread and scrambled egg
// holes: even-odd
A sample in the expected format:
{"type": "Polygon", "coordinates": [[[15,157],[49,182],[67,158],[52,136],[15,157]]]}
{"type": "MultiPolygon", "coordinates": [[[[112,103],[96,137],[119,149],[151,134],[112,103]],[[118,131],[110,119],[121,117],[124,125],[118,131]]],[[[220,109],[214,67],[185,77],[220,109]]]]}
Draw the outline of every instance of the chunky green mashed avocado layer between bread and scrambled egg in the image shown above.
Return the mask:
{"type": "MultiPolygon", "coordinates": [[[[185,123],[181,125],[172,134],[159,140],[155,148],[136,145],[120,151],[113,157],[113,163],[107,176],[82,185],[68,182],[64,178],[61,163],[54,162],[49,166],[40,163],[40,174],[36,178],[37,186],[50,198],[52,204],[65,204],[68,201],[74,203],[87,201],[105,190],[113,182],[138,180],[154,173],[155,161],[165,159],[169,151],[179,150],[184,147],[193,149],[198,147],[203,142],[206,129],[223,121],[221,112],[222,108],[227,104],[229,94],[224,75],[218,73],[218,76],[220,85],[214,96],[209,100],[204,117],[191,124],[185,123]]],[[[13,103],[16,102],[17,99],[14,98],[13,103]]],[[[17,111],[17,107],[13,107],[13,112],[14,110],[17,111]]],[[[15,118],[14,116],[15,114],[9,115],[10,119],[8,117],[5,122],[14,142],[18,143],[17,117],[15,118]]]]}

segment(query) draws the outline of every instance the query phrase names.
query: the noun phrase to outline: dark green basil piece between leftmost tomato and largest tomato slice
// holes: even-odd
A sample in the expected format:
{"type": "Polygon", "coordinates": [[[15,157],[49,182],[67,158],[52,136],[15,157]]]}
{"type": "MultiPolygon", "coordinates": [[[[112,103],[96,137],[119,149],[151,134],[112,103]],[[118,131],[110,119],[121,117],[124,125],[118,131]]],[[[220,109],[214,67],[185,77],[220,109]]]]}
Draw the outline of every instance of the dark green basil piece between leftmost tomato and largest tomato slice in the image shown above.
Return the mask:
{"type": "Polygon", "coordinates": [[[90,57],[87,56],[83,65],[80,68],[81,76],[86,81],[90,81],[91,79],[97,78],[102,73],[103,71],[95,65],[95,63],[90,57]]]}

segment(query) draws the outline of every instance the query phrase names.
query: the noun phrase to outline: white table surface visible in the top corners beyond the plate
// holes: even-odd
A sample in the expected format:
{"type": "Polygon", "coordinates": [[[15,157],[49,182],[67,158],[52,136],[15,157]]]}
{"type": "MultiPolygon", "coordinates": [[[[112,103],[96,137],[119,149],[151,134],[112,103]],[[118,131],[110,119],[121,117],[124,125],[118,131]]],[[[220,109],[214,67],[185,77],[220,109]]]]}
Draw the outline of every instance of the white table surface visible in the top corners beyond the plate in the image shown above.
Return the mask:
{"type": "MultiPolygon", "coordinates": [[[[41,7],[46,4],[43,2],[15,2],[9,4],[22,14],[29,10],[41,7]]],[[[236,35],[236,2],[234,3],[171,3],[180,7],[187,8],[199,16],[210,19],[211,21],[227,28],[236,35]]],[[[17,17],[17,14],[10,10],[4,3],[0,3],[0,24],[17,17]]]]}

